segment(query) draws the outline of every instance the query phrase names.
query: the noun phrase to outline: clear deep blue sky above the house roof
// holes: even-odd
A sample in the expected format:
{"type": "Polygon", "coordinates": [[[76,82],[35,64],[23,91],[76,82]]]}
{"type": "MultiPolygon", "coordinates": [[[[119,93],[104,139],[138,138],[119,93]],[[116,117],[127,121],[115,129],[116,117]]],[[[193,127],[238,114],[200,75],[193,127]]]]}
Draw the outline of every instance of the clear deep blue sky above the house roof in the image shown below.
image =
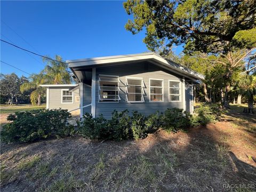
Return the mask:
{"type": "MultiPolygon", "coordinates": [[[[124,26],[122,1],[1,1],[1,39],[63,60],[146,52],[145,33],[124,26]]],[[[182,47],[175,47],[176,54],[182,47]]],[[[42,58],[1,42],[1,61],[28,74],[39,73],[42,58]]],[[[29,76],[1,62],[1,73],[29,76]]]]}

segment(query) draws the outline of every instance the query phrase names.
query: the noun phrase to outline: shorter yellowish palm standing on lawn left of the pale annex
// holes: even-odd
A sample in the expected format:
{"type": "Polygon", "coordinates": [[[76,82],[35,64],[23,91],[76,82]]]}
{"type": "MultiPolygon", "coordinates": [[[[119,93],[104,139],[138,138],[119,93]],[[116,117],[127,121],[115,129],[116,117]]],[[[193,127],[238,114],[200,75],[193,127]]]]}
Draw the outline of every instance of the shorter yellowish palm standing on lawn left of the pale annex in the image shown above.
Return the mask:
{"type": "Polygon", "coordinates": [[[34,90],[30,94],[30,101],[32,105],[41,105],[41,97],[45,93],[44,87],[41,87],[39,85],[44,84],[44,78],[43,74],[33,74],[29,77],[30,81],[25,82],[20,86],[21,93],[28,91],[28,90],[34,90]]]}

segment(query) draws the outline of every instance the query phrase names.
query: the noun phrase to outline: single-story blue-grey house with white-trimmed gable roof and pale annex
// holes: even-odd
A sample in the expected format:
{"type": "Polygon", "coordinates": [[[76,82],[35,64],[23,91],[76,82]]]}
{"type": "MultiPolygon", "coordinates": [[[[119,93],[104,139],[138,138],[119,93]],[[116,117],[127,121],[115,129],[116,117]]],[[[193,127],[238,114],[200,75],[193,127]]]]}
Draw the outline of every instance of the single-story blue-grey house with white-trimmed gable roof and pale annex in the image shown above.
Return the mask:
{"type": "Polygon", "coordinates": [[[146,116],[177,107],[193,113],[193,87],[204,76],[150,52],[67,60],[76,85],[47,87],[47,108],[111,117],[114,109],[146,116]]]}

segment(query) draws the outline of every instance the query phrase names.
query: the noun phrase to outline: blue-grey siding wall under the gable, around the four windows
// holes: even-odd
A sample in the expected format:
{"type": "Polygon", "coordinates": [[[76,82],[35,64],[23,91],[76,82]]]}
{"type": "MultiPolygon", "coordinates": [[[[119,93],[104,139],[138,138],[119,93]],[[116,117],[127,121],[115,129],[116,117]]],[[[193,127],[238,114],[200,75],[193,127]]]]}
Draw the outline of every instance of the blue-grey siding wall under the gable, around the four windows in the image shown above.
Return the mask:
{"type": "MultiPolygon", "coordinates": [[[[96,116],[103,114],[106,118],[111,117],[111,113],[114,109],[117,111],[122,111],[125,109],[129,110],[131,113],[133,110],[137,110],[139,113],[142,113],[146,116],[155,113],[157,110],[159,112],[164,112],[167,108],[177,107],[183,108],[186,106],[190,109],[189,104],[183,103],[185,100],[185,95],[183,95],[183,83],[181,83],[181,101],[179,102],[169,102],[169,80],[181,81],[182,76],[177,74],[172,74],[170,71],[165,71],[164,69],[157,67],[151,63],[137,63],[137,64],[127,64],[125,66],[115,66],[115,67],[102,67],[96,69],[96,116]],[[121,100],[119,102],[99,102],[99,75],[116,75],[119,76],[119,97],[121,100]],[[144,99],[145,102],[141,103],[129,103],[126,102],[126,77],[140,77],[143,78],[145,84],[144,99]],[[149,78],[163,79],[164,80],[164,91],[163,91],[163,102],[149,102],[149,78]]],[[[86,85],[87,86],[87,85],[86,85]]],[[[89,102],[89,99],[86,99],[86,94],[91,95],[90,87],[84,89],[84,99],[86,102],[89,102]]],[[[187,91],[185,94],[189,95],[190,92],[187,91]]],[[[191,97],[191,96],[190,96],[191,97]]],[[[91,100],[91,99],[90,99],[91,100]]],[[[90,103],[90,102],[89,102],[90,103]]],[[[84,104],[85,105],[85,104],[84,104]]],[[[89,110],[89,109],[85,109],[89,110]]],[[[85,111],[84,110],[84,111],[85,111]]],[[[90,113],[90,111],[88,111],[90,113]]]]}

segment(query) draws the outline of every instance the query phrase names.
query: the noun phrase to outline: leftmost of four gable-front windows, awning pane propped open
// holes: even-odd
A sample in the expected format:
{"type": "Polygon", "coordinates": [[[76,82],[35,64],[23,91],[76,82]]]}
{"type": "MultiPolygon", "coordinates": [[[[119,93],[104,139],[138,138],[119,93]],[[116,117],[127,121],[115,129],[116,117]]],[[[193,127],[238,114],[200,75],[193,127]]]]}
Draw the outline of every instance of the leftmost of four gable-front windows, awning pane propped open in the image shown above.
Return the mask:
{"type": "Polygon", "coordinates": [[[99,102],[118,102],[119,91],[117,76],[99,75],[99,102]]]}

